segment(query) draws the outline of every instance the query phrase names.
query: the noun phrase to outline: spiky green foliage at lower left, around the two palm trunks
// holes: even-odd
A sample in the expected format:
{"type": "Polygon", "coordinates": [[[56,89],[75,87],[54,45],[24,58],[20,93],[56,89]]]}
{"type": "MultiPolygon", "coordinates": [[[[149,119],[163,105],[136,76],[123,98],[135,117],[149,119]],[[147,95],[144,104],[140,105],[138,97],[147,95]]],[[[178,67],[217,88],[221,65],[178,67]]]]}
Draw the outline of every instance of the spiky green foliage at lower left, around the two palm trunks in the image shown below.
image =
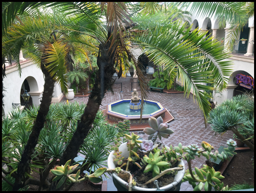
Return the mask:
{"type": "MultiPolygon", "coordinates": [[[[34,154],[32,155],[32,162],[29,163],[31,171],[25,172],[24,181],[26,183],[33,183],[37,181],[39,189],[46,188],[45,183],[50,169],[56,164],[57,159],[60,159],[67,142],[71,140],[72,133],[76,130],[77,121],[84,111],[85,104],[78,105],[78,103],[60,103],[52,105],[56,111],[52,112],[51,120],[47,121],[45,127],[39,135],[38,145],[34,154]],[[40,180],[32,180],[31,172],[40,173],[40,180]]],[[[11,180],[17,175],[18,162],[21,160],[24,145],[27,144],[29,134],[32,131],[34,116],[30,116],[31,112],[37,110],[36,107],[31,107],[22,111],[24,113],[23,119],[21,116],[12,116],[11,118],[4,118],[2,121],[2,158],[7,165],[7,170],[2,169],[7,176],[7,180],[11,180]]],[[[12,112],[12,115],[19,114],[20,111],[12,112]]],[[[51,113],[51,112],[50,112],[51,113]]],[[[106,125],[105,116],[98,112],[98,119],[93,124],[93,127],[81,145],[81,153],[85,155],[81,167],[78,169],[83,172],[88,170],[93,172],[102,165],[106,165],[108,151],[113,142],[114,137],[118,133],[115,125],[106,125]]],[[[50,184],[51,181],[48,182],[50,184]]],[[[49,187],[49,185],[48,185],[49,187]]]]}

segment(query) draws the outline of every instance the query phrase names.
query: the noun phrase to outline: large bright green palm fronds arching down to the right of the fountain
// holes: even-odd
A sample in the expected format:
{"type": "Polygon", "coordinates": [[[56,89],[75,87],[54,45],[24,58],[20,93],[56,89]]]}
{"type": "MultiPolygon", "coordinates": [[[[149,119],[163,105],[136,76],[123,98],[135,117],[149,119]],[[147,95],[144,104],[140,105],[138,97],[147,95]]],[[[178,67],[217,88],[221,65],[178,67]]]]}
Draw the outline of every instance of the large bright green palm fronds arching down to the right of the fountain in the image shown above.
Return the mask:
{"type": "MultiPolygon", "coordinates": [[[[150,24],[149,24],[150,25],[150,24]]],[[[147,33],[137,35],[135,41],[143,48],[143,53],[158,66],[169,68],[170,73],[178,67],[178,78],[184,84],[184,95],[193,92],[197,104],[202,109],[205,121],[209,114],[209,102],[202,90],[213,90],[206,86],[215,83],[220,89],[227,87],[227,78],[232,70],[231,61],[221,61],[228,55],[219,48],[219,43],[206,40],[206,33],[195,30],[189,34],[191,26],[177,21],[166,21],[162,27],[149,28],[147,33]]]]}

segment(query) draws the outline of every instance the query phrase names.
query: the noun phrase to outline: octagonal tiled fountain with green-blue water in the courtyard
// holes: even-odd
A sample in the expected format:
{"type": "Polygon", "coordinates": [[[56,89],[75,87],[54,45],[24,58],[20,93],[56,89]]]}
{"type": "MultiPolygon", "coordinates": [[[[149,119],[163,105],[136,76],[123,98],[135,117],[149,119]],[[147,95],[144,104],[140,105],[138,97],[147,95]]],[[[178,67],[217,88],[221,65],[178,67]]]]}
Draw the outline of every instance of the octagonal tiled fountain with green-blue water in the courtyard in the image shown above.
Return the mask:
{"type": "Polygon", "coordinates": [[[130,120],[131,124],[148,124],[149,118],[161,116],[164,119],[165,114],[169,113],[156,101],[145,100],[144,105],[142,121],[140,122],[141,99],[138,97],[136,89],[134,89],[131,99],[122,99],[107,105],[107,117],[109,120],[116,122],[127,119],[130,120]]]}

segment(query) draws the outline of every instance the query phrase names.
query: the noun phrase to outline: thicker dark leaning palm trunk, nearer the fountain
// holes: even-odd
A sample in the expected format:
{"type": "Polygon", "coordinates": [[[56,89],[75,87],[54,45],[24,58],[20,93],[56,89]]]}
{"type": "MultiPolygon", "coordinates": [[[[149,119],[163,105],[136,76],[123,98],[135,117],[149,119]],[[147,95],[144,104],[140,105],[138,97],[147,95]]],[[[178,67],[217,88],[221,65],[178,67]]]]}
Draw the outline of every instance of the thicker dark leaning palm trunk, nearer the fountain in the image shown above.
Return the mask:
{"type": "MultiPolygon", "coordinates": [[[[114,47],[114,46],[113,46],[114,47]]],[[[93,121],[101,105],[102,98],[109,87],[114,83],[112,79],[114,70],[114,53],[110,48],[110,42],[106,45],[99,45],[99,54],[97,59],[98,72],[95,79],[92,92],[89,96],[87,106],[81,120],[78,121],[77,129],[73,137],[65,149],[60,165],[64,165],[68,160],[77,157],[80,146],[84,143],[84,139],[92,128],[93,121]],[[111,54],[112,53],[112,54],[111,54]]]]}

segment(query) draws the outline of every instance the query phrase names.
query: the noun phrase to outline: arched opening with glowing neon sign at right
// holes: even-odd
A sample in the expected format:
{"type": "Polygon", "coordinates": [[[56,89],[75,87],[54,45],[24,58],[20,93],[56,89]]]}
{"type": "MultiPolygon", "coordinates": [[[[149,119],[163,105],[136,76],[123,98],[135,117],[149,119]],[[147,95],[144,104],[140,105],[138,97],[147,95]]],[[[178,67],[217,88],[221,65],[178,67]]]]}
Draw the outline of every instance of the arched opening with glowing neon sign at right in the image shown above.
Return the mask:
{"type": "Polygon", "coordinates": [[[234,88],[233,96],[243,95],[244,93],[254,94],[254,77],[245,71],[236,71],[232,75],[233,83],[237,85],[234,88]]]}

